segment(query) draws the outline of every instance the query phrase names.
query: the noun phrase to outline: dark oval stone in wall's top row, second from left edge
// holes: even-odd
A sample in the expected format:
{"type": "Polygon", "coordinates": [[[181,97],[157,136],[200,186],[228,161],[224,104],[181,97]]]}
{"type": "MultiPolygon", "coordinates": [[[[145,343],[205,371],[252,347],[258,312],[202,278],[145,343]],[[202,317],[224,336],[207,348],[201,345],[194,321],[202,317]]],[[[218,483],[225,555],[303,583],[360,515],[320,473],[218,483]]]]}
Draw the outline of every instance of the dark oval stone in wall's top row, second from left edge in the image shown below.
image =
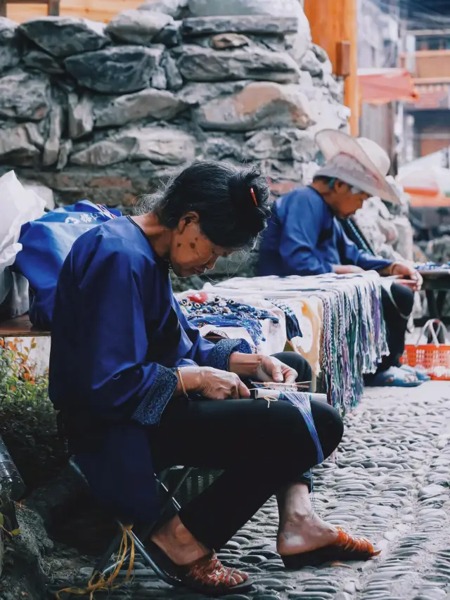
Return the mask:
{"type": "Polygon", "coordinates": [[[105,25],[73,17],[41,17],[22,23],[25,37],[58,58],[99,50],[111,43],[105,25]]]}

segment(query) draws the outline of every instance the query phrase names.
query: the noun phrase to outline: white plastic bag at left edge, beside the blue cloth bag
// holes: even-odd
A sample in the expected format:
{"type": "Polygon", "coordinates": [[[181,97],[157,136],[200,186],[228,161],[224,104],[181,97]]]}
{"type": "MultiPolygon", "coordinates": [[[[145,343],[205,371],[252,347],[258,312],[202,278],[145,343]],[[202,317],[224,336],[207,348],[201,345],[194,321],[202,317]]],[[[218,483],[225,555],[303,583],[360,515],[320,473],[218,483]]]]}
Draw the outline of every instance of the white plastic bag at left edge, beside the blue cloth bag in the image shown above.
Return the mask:
{"type": "Polygon", "coordinates": [[[44,207],[45,200],[34,191],[26,191],[14,171],[0,177],[0,305],[13,288],[9,267],[22,250],[20,228],[44,215],[44,207]]]}

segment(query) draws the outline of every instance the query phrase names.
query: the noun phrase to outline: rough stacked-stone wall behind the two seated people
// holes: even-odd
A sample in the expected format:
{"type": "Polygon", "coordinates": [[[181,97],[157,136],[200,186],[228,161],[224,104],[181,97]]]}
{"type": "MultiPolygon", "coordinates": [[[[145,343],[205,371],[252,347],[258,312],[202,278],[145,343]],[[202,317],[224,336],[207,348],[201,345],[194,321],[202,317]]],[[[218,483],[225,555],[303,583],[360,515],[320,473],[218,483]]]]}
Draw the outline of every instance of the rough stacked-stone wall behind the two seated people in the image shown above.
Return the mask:
{"type": "Polygon", "coordinates": [[[273,16],[267,0],[162,0],[108,26],[0,18],[0,174],[124,208],[196,158],[258,162],[275,192],[309,179],[314,133],[347,109],[292,1],[273,16]]]}

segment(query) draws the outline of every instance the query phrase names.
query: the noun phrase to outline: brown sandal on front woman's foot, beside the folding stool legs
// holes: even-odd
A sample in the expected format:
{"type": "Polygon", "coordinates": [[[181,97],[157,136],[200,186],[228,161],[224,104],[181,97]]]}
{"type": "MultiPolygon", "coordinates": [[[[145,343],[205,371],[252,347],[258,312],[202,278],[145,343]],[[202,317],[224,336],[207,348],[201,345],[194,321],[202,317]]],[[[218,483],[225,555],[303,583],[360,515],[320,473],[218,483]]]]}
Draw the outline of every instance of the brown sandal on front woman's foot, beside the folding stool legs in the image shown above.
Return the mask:
{"type": "Polygon", "coordinates": [[[169,584],[189,587],[207,596],[240,594],[252,589],[248,574],[222,565],[214,551],[184,566],[176,565],[154,542],[146,543],[146,551],[169,584]],[[243,582],[232,585],[233,575],[240,575],[243,582]]]}

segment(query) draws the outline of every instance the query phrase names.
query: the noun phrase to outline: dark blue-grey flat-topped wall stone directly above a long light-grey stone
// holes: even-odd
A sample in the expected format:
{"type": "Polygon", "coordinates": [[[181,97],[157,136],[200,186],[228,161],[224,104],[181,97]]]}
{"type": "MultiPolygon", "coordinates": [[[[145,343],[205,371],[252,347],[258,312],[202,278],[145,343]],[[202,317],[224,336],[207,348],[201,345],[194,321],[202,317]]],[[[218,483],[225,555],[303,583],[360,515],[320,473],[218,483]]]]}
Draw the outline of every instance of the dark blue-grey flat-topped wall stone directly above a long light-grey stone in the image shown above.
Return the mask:
{"type": "Polygon", "coordinates": [[[115,46],[70,56],[65,60],[65,68],[88,89],[106,94],[129,94],[150,87],[161,57],[159,47],[115,46]]]}

